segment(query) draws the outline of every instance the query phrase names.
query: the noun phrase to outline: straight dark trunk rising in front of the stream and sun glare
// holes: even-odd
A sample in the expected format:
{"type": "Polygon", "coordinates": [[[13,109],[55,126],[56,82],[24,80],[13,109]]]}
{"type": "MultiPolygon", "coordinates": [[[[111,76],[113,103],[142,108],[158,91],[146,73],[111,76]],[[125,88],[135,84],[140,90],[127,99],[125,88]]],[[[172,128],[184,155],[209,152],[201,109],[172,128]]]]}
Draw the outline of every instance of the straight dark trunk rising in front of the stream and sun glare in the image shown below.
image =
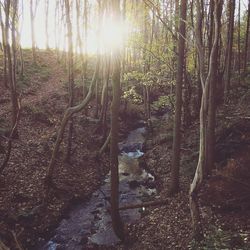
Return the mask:
{"type": "MultiPolygon", "coordinates": [[[[120,0],[112,0],[113,22],[120,20],[120,0]]],[[[112,38],[111,38],[112,39],[112,38]]],[[[124,228],[119,213],[119,171],[118,171],[118,137],[119,137],[119,108],[121,99],[120,73],[121,51],[112,51],[112,87],[113,100],[111,105],[111,131],[110,131],[110,169],[111,169],[111,218],[115,234],[124,239],[124,228]]]]}

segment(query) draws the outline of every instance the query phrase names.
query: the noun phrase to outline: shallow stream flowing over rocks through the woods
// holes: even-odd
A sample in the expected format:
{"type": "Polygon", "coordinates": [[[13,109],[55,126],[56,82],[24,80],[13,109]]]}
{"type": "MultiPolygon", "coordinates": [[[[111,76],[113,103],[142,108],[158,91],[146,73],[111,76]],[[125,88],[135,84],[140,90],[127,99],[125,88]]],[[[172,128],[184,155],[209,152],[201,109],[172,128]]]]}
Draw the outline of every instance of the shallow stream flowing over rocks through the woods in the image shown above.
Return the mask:
{"type": "MultiPolygon", "coordinates": [[[[138,158],[143,156],[145,128],[131,131],[126,140],[119,143],[120,206],[138,204],[156,193],[154,176],[139,167],[138,158]]],[[[88,202],[79,204],[63,219],[54,236],[42,247],[43,250],[80,250],[87,246],[112,246],[120,242],[112,229],[108,212],[110,200],[110,173],[88,202]]],[[[121,211],[125,223],[140,219],[142,209],[121,211]]]]}

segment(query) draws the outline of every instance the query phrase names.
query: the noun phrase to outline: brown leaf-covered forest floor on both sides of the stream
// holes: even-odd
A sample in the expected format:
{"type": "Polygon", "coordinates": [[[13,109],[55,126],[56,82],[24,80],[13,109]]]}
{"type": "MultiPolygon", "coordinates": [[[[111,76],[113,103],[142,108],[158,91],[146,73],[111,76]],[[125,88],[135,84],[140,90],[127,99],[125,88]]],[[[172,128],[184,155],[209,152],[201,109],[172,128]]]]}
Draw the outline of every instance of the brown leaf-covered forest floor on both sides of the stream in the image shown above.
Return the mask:
{"type": "MultiPolygon", "coordinates": [[[[95,119],[80,113],[75,118],[71,162],[63,161],[63,143],[48,206],[41,206],[46,168],[67,107],[67,70],[51,52],[40,52],[33,65],[31,53],[26,51],[25,68],[25,78],[19,82],[23,93],[19,137],[13,141],[10,161],[0,176],[0,239],[11,249],[18,244],[24,249],[34,249],[39,241],[43,244],[67,211],[87,200],[108,172],[108,157],[96,158],[102,139],[93,132],[95,119]]],[[[2,87],[0,91],[6,93],[2,87]]],[[[250,90],[239,88],[237,93],[218,112],[216,170],[200,194],[204,241],[199,245],[192,242],[188,205],[198,157],[198,122],[183,132],[180,192],[168,197],[173,125],[169,114],[153,119],[153,132],[141,160],[142,167],[156,177],[155,198],[168,202],[146,208],[140,221],[128,225],[126,244],[115,249],[250,249],[250,90]]],[[[0,128],[9,127],[9,99],[9,94],[0,96],[0,128]]],[[[128,125],[121,125],[122,136],[128,125]]],[[[2,162],[3,152],[0,157],[2,162]]]]}

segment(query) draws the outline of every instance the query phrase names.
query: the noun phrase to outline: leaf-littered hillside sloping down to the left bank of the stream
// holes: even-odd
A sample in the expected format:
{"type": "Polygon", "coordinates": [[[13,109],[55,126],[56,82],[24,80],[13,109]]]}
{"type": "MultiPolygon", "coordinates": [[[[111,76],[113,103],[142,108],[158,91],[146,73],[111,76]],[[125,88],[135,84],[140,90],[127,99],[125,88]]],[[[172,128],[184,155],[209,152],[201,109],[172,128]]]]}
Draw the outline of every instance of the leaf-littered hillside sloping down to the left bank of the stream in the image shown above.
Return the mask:
{"type": "MultiPolygon", "coordinates": [[[[48,206],[41,206],[46,168],[67,107],[67,70],[51,52],[39,52],[36,65],[32,64],[30,51],[25,51],[24,57],[25,79],[19,81],[22,92],[19,136],[12,143],[9,163],[0,176],[0,238],[11,243],[11,249],[16,247],[15,237],[27,249],[48,237],[70,206],[87,199],[108,171],[105,157],[96,160],[102,142],[100,135],[90,133],[96,129],[95,120],[78,115],[71,161],[63,162],[63,143],[48,206]]],[[[7,131],[11,107],[6,92],[1,89],[5,95],[0,97],[0,127],[7,131]]],[[[4,152],[0,157],[2,162],[4,152]]]]}

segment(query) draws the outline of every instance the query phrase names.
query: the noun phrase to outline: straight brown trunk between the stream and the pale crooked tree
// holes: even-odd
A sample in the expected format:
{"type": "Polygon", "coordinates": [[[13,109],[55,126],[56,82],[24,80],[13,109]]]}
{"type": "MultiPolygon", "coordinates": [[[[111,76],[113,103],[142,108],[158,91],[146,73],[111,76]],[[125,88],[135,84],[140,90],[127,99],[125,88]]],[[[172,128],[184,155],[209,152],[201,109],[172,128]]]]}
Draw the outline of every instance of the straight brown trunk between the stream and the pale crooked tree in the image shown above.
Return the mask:
{"type": "Polygon", "coordinates": [[[174,140],[173,140],[173,159],[171,166],[171,186],[169,194],[174,194],[179,190],[179,168],[180,168],[180,146],[181,146],[181,109],[182,109],[182,85],[185,69],[185,36],[187,1],[181,0],[179,21],[179,40],[178,40],[178,61],[177,76],[175,87],[175,118],[174,118],[174,140]]]}

